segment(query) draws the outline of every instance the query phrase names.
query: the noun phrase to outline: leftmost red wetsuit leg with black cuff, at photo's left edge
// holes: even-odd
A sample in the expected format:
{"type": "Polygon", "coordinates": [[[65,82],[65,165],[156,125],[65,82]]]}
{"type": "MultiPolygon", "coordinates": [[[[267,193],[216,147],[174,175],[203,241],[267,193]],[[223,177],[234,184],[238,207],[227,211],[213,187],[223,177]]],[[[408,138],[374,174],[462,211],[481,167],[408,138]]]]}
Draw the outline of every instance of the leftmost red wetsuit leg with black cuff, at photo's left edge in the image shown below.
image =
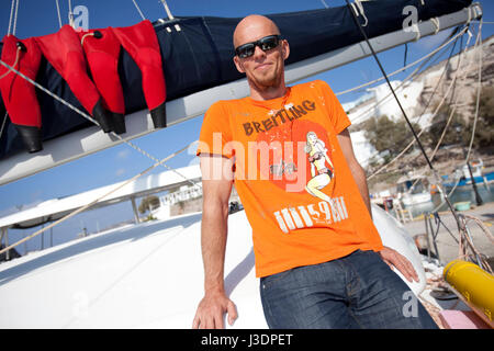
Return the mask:
{"type": "MultiPolygon", "coordinates": [[[[21,41],[13,35],[3,37],[2,61],[32,80],[36,79],[41,58],[34,39],[21,41]]],[[[27,151],[42,150],[42,117],[35,87],[4,66],[0,67],[0,77],[3,77],[0,79],[3,103],[27,151]]]]}

